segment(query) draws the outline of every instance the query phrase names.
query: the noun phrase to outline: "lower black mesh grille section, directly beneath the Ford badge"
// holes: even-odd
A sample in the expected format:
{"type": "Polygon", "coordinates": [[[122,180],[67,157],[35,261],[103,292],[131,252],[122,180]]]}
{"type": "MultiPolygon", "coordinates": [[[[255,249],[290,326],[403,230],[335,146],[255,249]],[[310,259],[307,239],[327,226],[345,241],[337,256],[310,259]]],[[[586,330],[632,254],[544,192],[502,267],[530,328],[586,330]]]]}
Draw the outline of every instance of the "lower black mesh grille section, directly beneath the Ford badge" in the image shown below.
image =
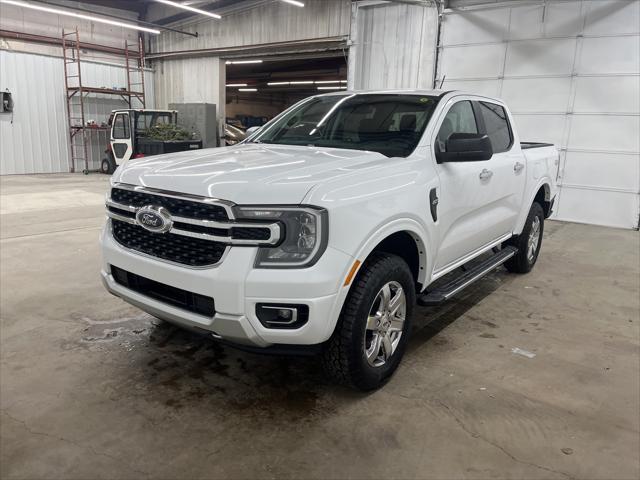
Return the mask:
{"type": "Polygon", "coordinates": [[[220,261],[224,243],[186,237],[172,233],[153,233],[120,220],[111,219],[113,237],[121,245],[154,257],[192,267],[213,265],[220,261]]]}

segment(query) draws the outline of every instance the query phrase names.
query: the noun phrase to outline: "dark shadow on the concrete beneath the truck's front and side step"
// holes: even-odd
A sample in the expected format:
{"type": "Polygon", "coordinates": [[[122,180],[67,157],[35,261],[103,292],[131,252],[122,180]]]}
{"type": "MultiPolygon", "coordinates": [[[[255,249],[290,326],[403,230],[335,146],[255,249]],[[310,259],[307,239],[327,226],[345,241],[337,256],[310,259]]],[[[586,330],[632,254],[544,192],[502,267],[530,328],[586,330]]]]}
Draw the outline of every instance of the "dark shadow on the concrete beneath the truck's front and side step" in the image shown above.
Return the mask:
{"type": "MultiPolygon", "coordinates": [[[[431,342],[447,348],[446,341],[433,337],[508,281],[500,271],[446,305],[417,307],[405,358],[431,342]]],[[[292,421],[327,415],[364,396],[332,385],[317,358],[247,353],[151,317],[146,321],[148,336],[138,336],[133,361],[117,386],[124,395],[140,395],[171,410],[222,410],[261,421],[285,414],[292,421]]]]}

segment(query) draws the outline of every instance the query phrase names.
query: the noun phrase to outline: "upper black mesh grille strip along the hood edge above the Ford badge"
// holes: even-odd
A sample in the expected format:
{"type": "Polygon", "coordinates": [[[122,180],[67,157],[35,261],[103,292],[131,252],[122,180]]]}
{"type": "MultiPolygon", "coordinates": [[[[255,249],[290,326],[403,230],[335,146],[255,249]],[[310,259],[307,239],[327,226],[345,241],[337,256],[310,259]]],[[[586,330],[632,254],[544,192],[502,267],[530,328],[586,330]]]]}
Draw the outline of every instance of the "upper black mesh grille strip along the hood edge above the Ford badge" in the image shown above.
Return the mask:
{"type": "Polygon", "coordinates": [[[210,205],[182,198],[165,197],[164,195],[154,195],[153,193],[126,190],[124,188],[112,188],[111,200],[133,207],[144,207],[145,205],[165,207],[172,215],[177,217],[193,218],[196,220],[215,220],[220,222],[229,220],[227,211],[220,205],[210,205]]]}

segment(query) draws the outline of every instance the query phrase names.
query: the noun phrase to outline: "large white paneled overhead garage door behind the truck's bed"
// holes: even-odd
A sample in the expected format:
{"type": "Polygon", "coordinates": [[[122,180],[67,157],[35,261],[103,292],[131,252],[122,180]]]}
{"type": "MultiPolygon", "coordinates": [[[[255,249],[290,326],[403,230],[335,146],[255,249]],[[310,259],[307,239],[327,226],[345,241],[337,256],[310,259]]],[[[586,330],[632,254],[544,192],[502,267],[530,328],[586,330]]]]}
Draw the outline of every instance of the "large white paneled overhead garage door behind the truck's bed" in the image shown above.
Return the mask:
{"type": "Polygon", "coordinates": [[[504,98],[523,139],[561,148],[557,218],[637,228],[640,1],[449,4],[444,88],[504,98]]]}

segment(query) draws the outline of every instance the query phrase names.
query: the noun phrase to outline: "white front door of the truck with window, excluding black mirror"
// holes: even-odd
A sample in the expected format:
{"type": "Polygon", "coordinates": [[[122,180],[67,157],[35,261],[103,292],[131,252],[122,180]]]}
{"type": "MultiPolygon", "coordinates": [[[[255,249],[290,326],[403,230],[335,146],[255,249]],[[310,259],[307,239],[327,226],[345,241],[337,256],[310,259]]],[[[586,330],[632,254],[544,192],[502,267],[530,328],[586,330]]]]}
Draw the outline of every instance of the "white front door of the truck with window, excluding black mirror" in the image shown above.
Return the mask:
{"type": "MultiPolygon", "coordinates": [[[[438,119],[437,134],[432,142],[434,155],[436,149],[446,151],[446,141],[454,133],[482,133],[482,119],[472,99],[453,98],[448,107],[445,115],[438,119]]],[[[434,265],[435,275],[499,237],[496,233],[494,163],[490,159],[437,165],[440,247],[434,265]]]]}

